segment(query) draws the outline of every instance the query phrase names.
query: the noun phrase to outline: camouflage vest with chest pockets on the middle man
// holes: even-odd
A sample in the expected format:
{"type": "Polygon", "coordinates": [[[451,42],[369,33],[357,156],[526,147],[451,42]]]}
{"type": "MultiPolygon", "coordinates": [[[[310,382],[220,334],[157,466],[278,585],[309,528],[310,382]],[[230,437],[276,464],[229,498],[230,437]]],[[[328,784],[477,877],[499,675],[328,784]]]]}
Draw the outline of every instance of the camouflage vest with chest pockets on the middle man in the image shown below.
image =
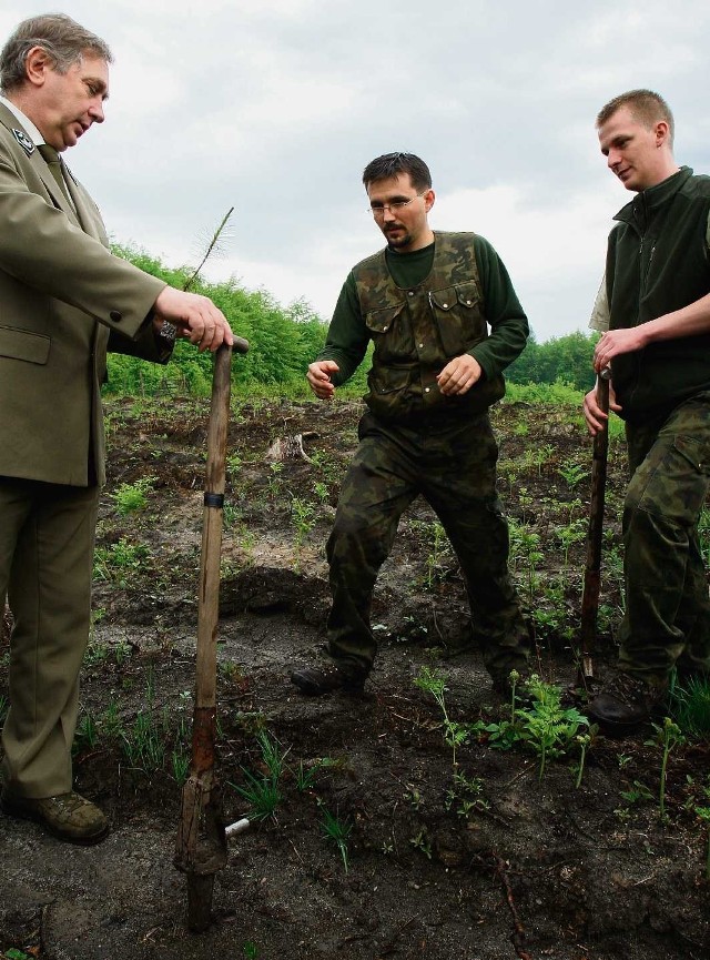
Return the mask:
{"type": "Polygon", "coordinates": [[[374,343],[365,402],[385,420],[423,413],[481,413],[505,393],[485,376],[463,396],[444,396],[436,375],[488,336],[473,233],[435,233],[432,272],[418,286],[397,286],[385,251],[354,271],[362,315],[374,343]]]}

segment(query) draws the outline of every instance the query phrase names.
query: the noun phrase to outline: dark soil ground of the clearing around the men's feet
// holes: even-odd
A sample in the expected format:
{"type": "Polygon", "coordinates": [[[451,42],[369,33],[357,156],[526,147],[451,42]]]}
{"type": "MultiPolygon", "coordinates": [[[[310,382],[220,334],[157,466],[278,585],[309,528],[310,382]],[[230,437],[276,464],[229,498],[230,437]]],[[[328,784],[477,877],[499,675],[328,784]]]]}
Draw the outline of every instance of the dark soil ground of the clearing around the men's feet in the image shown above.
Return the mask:
{"type": "MultiPolygon", "coordinates": [[[[499,721],[510,708],[466,649],[463,584],[425,503],[403,521],[381,576],[373,622],[382,649],[364,697],[307,699],[288,683],[324,639],[323,548],[359,413],[347,403],[233,402],[217,683],[229,821],[250,812],[236,789],[248,786],[245,771],[267,774],[260,734],[287,754],[273,816],[230,843],[210,930],[187,932],[185,879],[172,861],[192,719],[209,402],[111,400],[108,413],[75,774],[112,831],[78,848],[0,817],[0,949],[52,960],[710,956],[707,832],[696,814],[710,804],[706,742],[671,752],[665,820],[650,726],[623,741],[596,737],[578,788],[577,742],[539,779],[531,750],[494,750],[468,732],[454,766],[442,711],[414,684],[420,670],[445,675],[456,724],[499,721]],[[268,453],[274,441],[285,458],[268,453]],[[145,477],[146,506],[121,513],[121,485],[135,491],[145,477]],[[344,853],[325,833],[328,816],[349,828],[344,853]]],[[[565,407],[504,404],[494,422],[536,669],[571,688],[590,444],[565,407]]],[[[601,675],[621,604],[623,485],[616,442],[601,675]]],[[[6,635],[0,695],[7,654],[6,635]]],[[[584,708],[580,691],[566,697],[584,708]]]]}

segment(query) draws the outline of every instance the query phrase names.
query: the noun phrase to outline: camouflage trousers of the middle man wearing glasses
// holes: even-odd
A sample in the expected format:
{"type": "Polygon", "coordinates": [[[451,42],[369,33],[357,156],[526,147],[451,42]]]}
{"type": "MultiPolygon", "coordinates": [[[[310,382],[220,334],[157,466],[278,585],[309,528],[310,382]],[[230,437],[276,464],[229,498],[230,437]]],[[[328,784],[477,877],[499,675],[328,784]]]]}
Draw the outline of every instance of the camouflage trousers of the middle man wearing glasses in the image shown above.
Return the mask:
{"type": "Polygon", "coordinates": [[[372,668],[375,580],[402,514],[422,495],[458,557],[486,666],[494,676],[524,666],[529,637],[508,575],[508,525],[496,496],[498,446],[488,414],[403,426],[366,413],[358,433],[327,543],[331,655],[372,668]]]}

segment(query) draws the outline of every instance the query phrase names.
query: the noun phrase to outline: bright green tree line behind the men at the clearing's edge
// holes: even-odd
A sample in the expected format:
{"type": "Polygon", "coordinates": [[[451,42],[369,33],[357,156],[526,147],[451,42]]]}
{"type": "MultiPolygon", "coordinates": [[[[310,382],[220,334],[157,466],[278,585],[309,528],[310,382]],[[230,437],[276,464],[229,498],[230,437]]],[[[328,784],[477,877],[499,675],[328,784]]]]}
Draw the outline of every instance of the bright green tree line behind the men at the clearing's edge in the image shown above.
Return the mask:
{"type": "MultiPolygon", "coordinates": [[[[192,275],[190,267],[169,269],[148,253],[126,246],[113,252],[166,283],[182,287],[192,275]]],[[[195,293],[211,297],[230,321],[232,329],[250,342],[246,356],[233,362],[236,388],[264,390],[286,395],[307,391],[305,372],[325,342],[327,325],[305,301],[280,305],[266,291],[246,291],[235,279],[221,283],[197,280],[195,293]]],[[[594,383],[591,355],[596,334],[570,333],[538,344],[530,337],[518,360],[508,367],[507,380],[518,384],[569,384],[589,390],[594,383]]],[[[347,384],[354,395],[365,393],[369,364],[363,363],[347,384]]],[[[178,342],[173,362],[168,366],[146,364],[135,357],[111,354],[108,393],[199,394],[206,395],[212,383],[212,358],[190,344],[178,342]]]]}

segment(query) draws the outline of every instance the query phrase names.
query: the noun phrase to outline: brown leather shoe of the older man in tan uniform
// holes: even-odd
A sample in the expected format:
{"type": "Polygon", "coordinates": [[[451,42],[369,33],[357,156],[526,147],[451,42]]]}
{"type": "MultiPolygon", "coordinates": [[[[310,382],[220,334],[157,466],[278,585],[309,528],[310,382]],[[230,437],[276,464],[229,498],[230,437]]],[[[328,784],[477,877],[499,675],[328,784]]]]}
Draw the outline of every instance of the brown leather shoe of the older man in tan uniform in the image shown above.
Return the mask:
{"type": "Polygon", "coordinates": [[[70,843],[98,843],[109,832],[109,821],[99,807],[73,790],[34,799],[18,797],[6,787],[0,795],[0,807],[10,817],[34,820],[70,843]]]}

